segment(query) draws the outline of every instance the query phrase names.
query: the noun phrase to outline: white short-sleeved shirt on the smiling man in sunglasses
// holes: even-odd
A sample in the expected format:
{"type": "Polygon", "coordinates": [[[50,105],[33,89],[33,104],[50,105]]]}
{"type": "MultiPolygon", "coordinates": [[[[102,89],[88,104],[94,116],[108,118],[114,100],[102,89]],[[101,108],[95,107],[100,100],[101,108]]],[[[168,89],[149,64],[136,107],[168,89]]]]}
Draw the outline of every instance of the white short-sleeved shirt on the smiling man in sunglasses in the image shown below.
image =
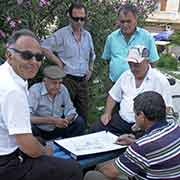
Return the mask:
{"type": "Polygon", "coordinates": [[[32,133],[24,81],[5,62],[0,66],[0,155],[14,152],[15,134],[32,133]]]}

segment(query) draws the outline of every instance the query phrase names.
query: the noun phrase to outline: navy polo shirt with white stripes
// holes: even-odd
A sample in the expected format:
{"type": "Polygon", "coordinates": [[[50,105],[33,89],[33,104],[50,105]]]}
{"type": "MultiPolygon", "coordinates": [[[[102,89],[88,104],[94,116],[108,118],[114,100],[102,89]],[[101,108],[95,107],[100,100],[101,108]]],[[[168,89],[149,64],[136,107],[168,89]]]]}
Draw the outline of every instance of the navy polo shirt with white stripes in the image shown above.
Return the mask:
{"type": "Polygon", "coordinates": [[[180,126],[159,121],[115,159],[122,173],[143,180],[180,180],[180,126]]]}

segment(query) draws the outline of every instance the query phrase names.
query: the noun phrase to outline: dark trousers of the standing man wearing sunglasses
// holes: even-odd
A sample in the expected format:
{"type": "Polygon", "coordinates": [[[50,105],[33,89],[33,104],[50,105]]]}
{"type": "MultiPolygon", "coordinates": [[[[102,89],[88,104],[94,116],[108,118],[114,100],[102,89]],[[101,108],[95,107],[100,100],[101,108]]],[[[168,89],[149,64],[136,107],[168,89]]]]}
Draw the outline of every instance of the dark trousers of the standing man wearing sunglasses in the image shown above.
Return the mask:
{"type": "Polygon", "coordinates": [[[87,123],[88,113],[88,81],[85,78],[78,78],[67,75],[63,81],[67,87],[71,100],[80,116],[82,116],[87,123]]]}

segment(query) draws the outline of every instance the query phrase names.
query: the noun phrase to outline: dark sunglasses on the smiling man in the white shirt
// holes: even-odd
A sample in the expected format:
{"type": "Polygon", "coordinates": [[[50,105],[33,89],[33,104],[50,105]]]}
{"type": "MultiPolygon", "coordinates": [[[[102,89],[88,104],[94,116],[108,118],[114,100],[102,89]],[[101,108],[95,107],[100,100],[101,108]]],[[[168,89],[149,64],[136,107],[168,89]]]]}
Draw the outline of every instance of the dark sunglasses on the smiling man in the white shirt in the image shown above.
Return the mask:
{"type": "Polygon", "coordinates": [[[9,49],[12,49],[13,51],[15,51],[16,53],[19,53],[20,56],[24,59],[24,60],[31,60],[33,57],[36,58],[36,61],[38,62],[41,62],[45,59],[45,56],[43,54],[40,54],[40,53],[32,53],[31,51],[20,51],[18,49],[15,49],[15,48],[9,48],[9,49]]]}

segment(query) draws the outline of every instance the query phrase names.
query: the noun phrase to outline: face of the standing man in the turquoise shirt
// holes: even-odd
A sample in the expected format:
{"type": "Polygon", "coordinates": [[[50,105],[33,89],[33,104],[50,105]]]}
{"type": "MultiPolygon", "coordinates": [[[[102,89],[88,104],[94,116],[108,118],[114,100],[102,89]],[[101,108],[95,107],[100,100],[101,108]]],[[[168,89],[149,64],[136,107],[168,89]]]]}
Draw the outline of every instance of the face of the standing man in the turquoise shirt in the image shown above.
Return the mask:
{"type": "Polygon", "coordinates": [[[121,31],[125,36],[131,36],[134,33],[137,25],[137,18],[132,12],[120,12],[118,21],[121,31]]]}

